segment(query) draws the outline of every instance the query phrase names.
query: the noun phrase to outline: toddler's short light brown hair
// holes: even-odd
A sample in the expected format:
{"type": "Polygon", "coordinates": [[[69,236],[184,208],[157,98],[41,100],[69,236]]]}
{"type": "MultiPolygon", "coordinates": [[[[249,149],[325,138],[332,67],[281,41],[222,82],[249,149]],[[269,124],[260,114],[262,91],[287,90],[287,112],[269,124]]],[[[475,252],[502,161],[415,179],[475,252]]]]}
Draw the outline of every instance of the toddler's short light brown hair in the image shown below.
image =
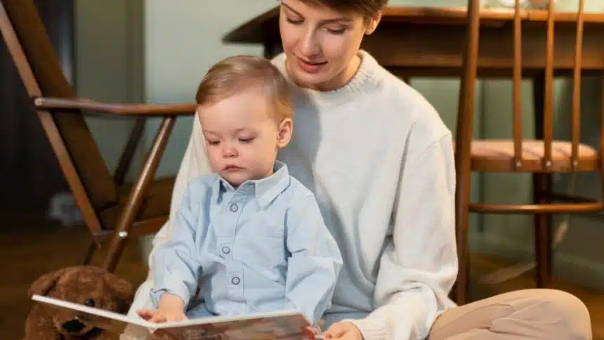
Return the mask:
{"type": "Polygon", "coordinates": [[[197,105],[209,105],[251,89],[261,89],[273,100],[277,122],[294,115],[283,74],[270,60],[251,55],[235,55],[212,66],[199,84],[195,100],[197,105]]]}

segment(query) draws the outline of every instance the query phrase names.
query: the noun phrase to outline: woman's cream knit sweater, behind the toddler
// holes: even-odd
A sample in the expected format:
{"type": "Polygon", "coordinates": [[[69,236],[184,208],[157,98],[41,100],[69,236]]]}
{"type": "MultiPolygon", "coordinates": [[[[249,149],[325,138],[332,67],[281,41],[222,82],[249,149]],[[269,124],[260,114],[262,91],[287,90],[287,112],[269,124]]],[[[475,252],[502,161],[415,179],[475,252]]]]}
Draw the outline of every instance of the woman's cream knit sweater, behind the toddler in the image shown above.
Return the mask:
{"type": "MultiPolygon", "coordinates": [[[[452,136],[426,99],[360,53],[346,86],[293,87],[294,137],[279,159],[315,192],[342,252],[327,324],[352,320],[365,340],[424,339],[454,306],[447,298],[457,275],[452,136]]],[[[287,75],[284,55],[273,63],[287,75]]],[[[186,183],[209,172],[194,122],[171,216],[186,183]]],[[[155,244],[170,232],[171,218],[155,244]]],[[[149,286],[138,289],[131,314],[148,303],[149,286]]]]}

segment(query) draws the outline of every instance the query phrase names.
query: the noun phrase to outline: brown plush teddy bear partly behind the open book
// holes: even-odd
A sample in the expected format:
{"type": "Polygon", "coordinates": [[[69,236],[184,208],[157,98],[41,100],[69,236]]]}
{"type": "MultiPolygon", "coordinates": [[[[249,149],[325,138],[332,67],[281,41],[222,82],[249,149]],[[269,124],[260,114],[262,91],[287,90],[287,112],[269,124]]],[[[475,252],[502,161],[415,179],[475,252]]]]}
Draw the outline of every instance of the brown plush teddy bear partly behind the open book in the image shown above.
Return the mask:
{"type": "MultiPolygon", "coordinates": [[[[34,294],[116,313],[127,313],[133,299],[130,282],[96,266],[74,266],[42,275],[29,287],[29,296],[34,294]]],[[[25,320],[25,340],[117,339],[74,317],[68,309],[36,303],[25,320]]]]}

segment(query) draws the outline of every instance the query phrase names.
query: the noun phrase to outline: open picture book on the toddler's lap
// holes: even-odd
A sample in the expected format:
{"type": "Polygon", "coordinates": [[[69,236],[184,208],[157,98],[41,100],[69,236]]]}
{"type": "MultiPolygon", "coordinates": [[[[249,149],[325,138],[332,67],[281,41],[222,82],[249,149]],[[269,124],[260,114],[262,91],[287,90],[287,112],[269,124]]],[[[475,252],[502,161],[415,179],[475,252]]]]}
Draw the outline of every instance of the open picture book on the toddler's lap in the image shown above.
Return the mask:
{"type": "MultiPolygon", "coordinates": [[[[124,334],[126,327],[136,334],[153,334],[148,339],[170,340],[239,340],[239,339],[321,339],[313,337],[310,322],[296,310],[252,313],[236,316],[215,316],[176,322],[153,323],[141,318],[84,306],[48,296],[34,295],[34,301],[53,308],[67,308],[87,325],[107,332],[124,334]]],[[[126,339],[145,339],[131,337],[126,339]]]]}

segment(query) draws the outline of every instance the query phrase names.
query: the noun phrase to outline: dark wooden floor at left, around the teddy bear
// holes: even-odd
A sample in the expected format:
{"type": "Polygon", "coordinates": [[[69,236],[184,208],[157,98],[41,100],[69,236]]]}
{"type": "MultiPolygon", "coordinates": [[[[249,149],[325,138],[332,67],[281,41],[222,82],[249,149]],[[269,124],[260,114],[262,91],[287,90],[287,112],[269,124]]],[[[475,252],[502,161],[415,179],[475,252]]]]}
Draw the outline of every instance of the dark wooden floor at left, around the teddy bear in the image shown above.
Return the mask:
{"type": "MultiPolygon", "coordinates": [[[[37,216],[0,218],[0,339],[21,339],[32,307],[29,285],[40,275],[81,264],[90,239],[85,228],[49,223],[37,216]]],[[[101,259],[103,249],[97,251],[93,264],[101,259]]],[[[128,244],[116,274],[138,287],[146,273],[138,244],[128,244]]]]}

